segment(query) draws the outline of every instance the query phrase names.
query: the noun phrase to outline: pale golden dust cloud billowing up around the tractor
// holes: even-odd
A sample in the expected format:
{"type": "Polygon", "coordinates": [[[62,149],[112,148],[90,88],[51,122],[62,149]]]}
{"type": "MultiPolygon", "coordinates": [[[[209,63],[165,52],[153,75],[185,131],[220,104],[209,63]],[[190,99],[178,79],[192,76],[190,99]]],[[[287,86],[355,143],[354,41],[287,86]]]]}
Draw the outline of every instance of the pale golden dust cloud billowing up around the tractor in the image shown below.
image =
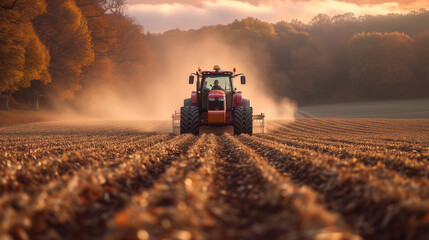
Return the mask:
{"type": "MultiPolygon", "coordinates": [[[[180,111],[183,100],[196,90],[188,84],[191,72],[212,70],[215,64],[222,70],[244,73],[246,85],[240,78],[234,87],[250,99],[254,114],[264,113],[267,119],[293,120],[296,104],[287,99],[275,98],[266,83],[272,68],[268,50],[248,44],[228,44],[222,36],[210,34],[198,39],[166,40],[154,43],[155,65],[148,72],[136,73],[139,85],[132,91],[117,92],[104,88],[96,97],[84,95],[84,112],[93,116],[121,120],[170,120],[171,114],[180,111]]],[[[146,70],[147,71],[147,70],[146,70]]],[[[281,79],[279,79],[280,81],[281,79]]]]}

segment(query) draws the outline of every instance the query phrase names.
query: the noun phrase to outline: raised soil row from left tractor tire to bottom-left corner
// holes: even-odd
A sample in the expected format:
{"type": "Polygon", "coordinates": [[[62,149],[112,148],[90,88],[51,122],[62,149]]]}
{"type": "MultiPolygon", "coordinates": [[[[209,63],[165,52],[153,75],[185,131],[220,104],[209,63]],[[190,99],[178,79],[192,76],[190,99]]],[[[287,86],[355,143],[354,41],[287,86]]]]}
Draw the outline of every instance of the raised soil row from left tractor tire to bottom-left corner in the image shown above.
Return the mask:
{"type": "MultiPolygon", "coordinates": [[[[171,161],[196,138],[190,135],[160,143],[116,168],[91,168],[40,188],[40,193],[10,193],[0,198],[1,231],[16,238],[92,239],[131,195],[152,187],[171,161]]],[[[7,235],[0,236],[6,237],[7,235]]]]}

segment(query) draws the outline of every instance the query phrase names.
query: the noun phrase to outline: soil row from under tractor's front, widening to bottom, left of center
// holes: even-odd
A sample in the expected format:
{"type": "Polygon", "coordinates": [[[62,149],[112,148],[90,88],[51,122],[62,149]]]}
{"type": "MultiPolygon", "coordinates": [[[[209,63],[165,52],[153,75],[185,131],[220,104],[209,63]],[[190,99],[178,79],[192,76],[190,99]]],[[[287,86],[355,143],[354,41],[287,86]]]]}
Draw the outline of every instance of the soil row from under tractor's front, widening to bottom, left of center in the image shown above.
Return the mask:
{"type": "Polygon", "coordinates": [[[106,239],[222,239],[207,200],[218,147],[203,134],[153,188],[134,196],[110,220],[106,239]]]}

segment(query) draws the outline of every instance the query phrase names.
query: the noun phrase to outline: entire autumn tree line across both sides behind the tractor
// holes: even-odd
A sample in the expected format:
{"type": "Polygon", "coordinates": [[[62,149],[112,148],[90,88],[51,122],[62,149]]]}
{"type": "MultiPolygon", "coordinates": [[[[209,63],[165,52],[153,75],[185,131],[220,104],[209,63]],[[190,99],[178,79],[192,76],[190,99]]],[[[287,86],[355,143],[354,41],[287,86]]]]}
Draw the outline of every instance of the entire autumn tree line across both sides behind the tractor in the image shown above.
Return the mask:
{"type": "Polygon", "coordinates": [[[309,23],[246,18],[144,34],[125,6],[125,0],[2,3],[2,107],[11,97],[37,108],[40,96],[47,106],[77,106],[85,104],[83,93],[97,96],[102,89],[138,94],[135,86],[150,84],[147,79],[162,65],[169,47],[178,42],[192,46],[203,36],[259,49],[251,51],[249,61],[255,66],[269,62],[267,87],[299,104],[429,97],[425,9],[360,17],[319,14],[309,23]]]}

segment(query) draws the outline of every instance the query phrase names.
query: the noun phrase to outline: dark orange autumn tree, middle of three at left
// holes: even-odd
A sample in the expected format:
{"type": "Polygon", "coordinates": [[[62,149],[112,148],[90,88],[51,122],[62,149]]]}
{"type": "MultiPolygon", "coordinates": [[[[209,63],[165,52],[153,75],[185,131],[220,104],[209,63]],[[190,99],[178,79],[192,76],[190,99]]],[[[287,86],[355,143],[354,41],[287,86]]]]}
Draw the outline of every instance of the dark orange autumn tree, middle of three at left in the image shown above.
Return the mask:
{"type": "Polygon", "coordinates": [[[72,100],[80,90],[82,68],[94,60],[87,20],[73,0],[47,0],[47,12],[35,19],[42,42],[49,48],[55,99],[72,100]]]}

